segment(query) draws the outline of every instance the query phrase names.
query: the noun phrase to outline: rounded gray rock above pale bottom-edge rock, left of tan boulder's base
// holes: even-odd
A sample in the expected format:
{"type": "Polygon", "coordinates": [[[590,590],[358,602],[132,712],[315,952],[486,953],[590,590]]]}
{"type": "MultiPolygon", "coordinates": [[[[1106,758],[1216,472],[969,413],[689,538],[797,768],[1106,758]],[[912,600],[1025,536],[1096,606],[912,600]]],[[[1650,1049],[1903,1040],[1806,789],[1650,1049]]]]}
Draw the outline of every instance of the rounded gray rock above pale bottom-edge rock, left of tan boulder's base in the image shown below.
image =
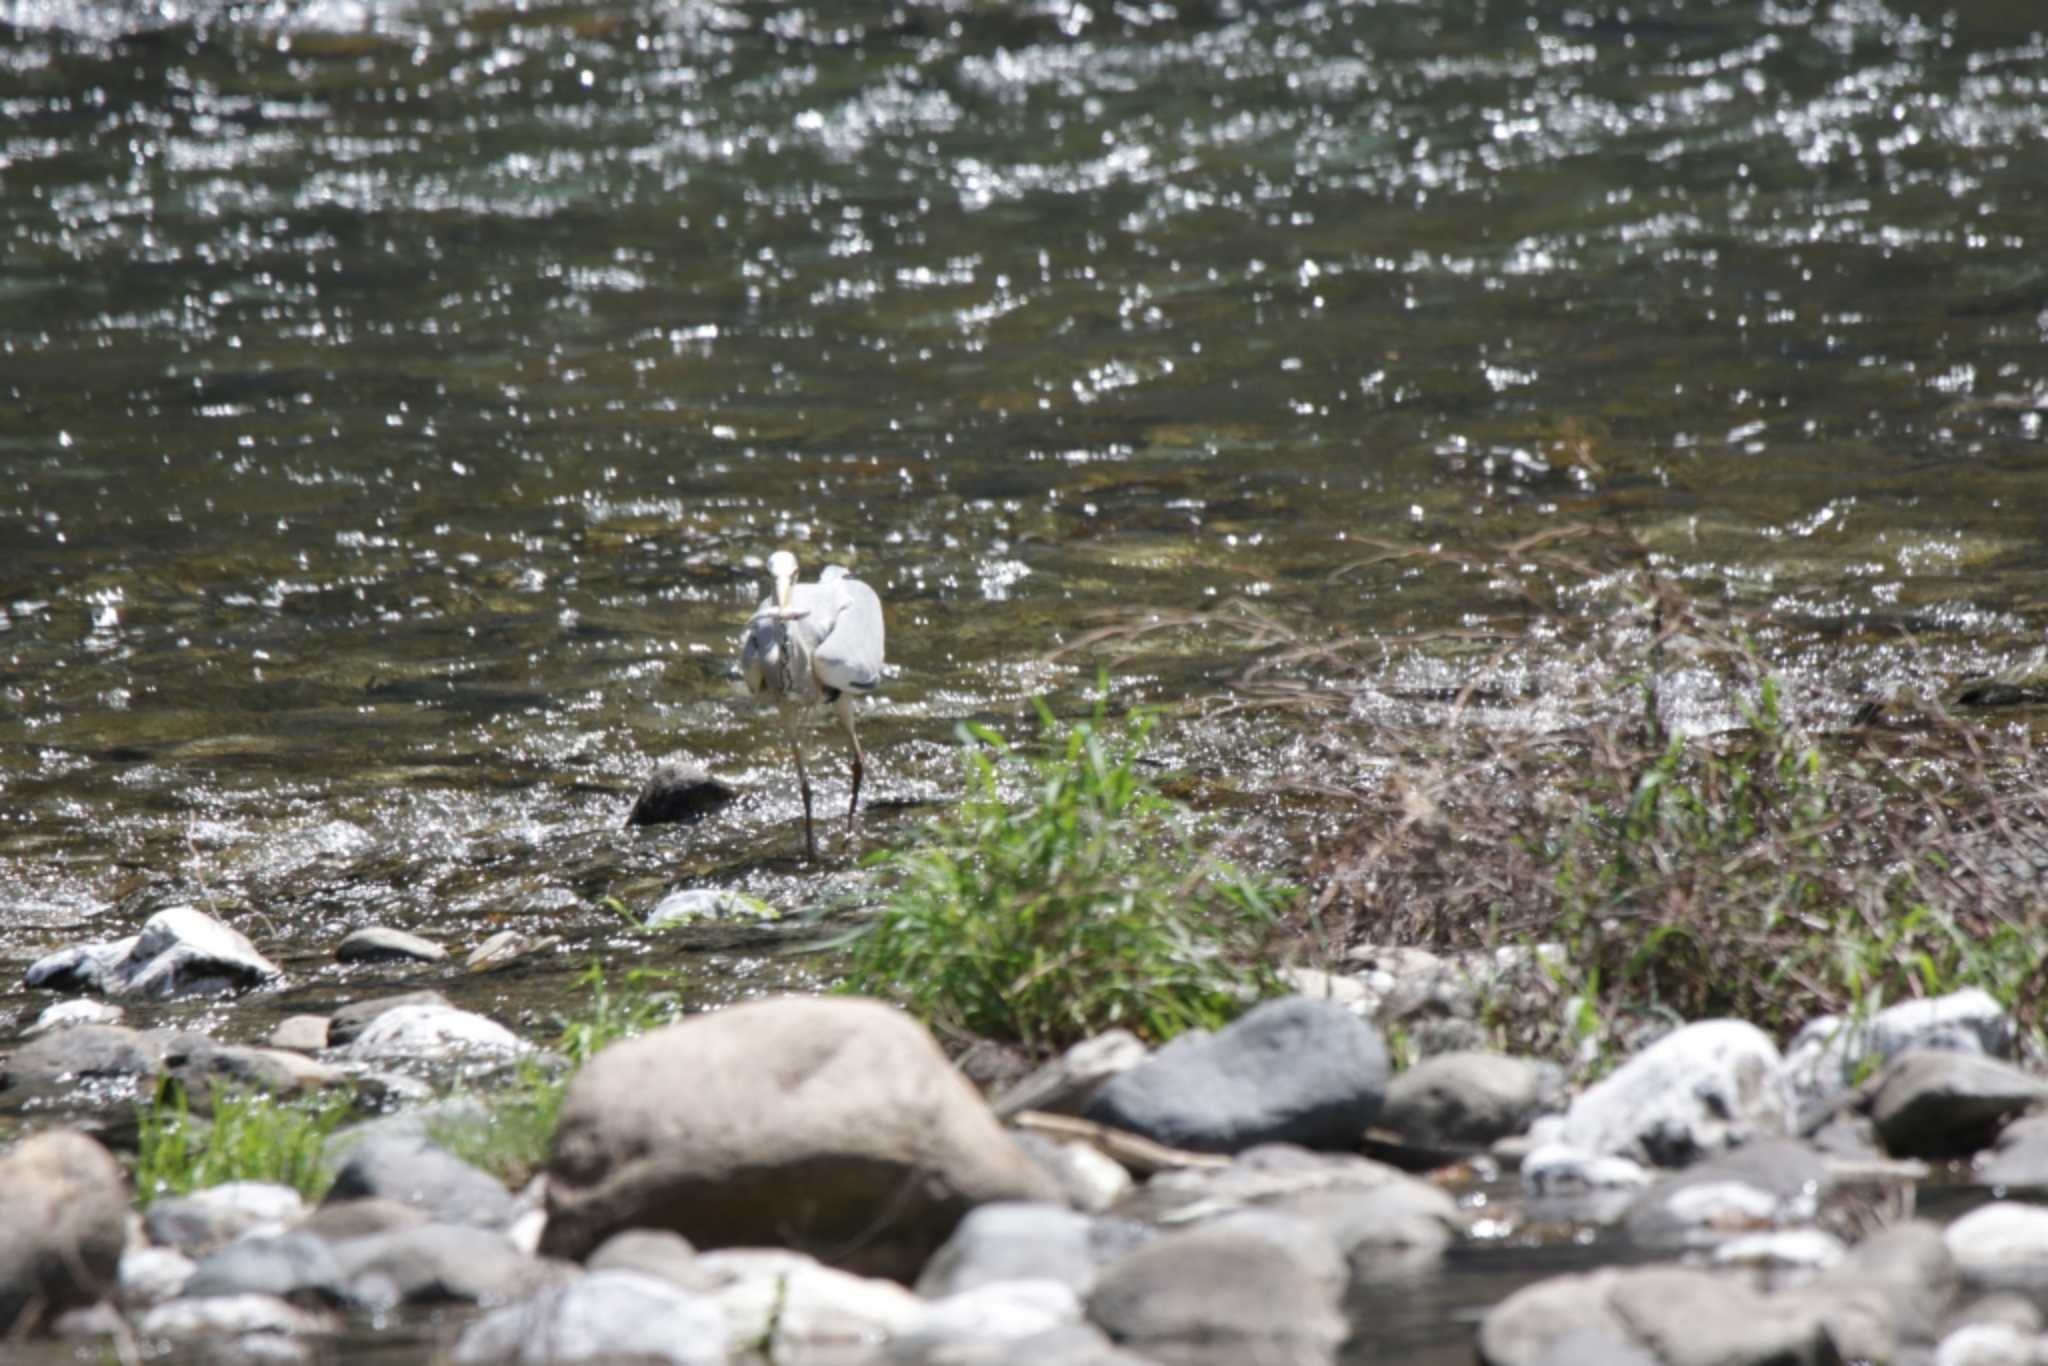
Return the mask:
{"type": "Polygon", "coordinates": [[[565,1274],[512,1239],[471,1225],[424,1223],[334,1243],[348,1298],[373,1311],[399,1305],[502,1305],[565,1274]]]}

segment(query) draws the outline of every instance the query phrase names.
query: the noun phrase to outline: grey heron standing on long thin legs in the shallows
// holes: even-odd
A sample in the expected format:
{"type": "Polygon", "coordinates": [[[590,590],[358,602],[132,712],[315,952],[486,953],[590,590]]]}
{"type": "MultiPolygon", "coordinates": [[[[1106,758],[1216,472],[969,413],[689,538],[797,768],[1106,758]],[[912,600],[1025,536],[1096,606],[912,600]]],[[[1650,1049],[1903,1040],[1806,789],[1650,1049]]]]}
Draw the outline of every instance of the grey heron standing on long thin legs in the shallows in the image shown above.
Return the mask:
{"type": "Polygon", "coordinates": [[[874,692],[883,680],[883,602],[846,565],[825,565],[815,584],[799,584],[797,557],[776,551],[768,557],[768,573],[774,575],[774,594],[748,621],[739,672],[748,692],[782,711],[803,791],[803,848],[817,858],[811,776],[803,770],[799,727],[813,707],[836,707],[846,723],[846,737],[854,741],[854,793],[846,799],[846,836],[852,838],[862,772],[854,698],[874,692]]]}

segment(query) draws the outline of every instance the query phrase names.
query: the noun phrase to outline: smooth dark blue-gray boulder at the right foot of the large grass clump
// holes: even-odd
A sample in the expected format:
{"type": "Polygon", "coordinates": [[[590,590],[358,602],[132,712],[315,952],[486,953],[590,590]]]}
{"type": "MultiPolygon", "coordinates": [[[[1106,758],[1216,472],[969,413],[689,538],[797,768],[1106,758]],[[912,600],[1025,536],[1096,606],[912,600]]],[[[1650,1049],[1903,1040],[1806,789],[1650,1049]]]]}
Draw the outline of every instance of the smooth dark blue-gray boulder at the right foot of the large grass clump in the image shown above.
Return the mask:
{"type": "Polygon", "coordinates": [[[1378,1032],[1341,1006],[1296,995],[1214,1034],[1182,1034],[1110,1077],[1083,1114],[1204,1153],[1260,1143],[1356,1149],[1384,1087],[1378,1032]]]}

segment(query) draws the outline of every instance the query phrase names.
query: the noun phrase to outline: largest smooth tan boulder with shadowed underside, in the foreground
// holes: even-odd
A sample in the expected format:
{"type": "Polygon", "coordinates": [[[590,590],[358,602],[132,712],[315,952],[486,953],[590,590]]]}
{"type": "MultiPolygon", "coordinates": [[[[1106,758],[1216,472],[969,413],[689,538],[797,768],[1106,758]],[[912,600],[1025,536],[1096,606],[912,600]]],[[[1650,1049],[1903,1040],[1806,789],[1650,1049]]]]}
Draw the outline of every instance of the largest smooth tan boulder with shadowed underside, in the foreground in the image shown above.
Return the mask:
{"type": "Polygon", "coordinates": [[[1059,1198],[922,1024],[877,1001],[778,997],[612,1044],[578,1073],[543,1251],[674,1229],[911,1280],[977,1204],[1059,1198]]]}

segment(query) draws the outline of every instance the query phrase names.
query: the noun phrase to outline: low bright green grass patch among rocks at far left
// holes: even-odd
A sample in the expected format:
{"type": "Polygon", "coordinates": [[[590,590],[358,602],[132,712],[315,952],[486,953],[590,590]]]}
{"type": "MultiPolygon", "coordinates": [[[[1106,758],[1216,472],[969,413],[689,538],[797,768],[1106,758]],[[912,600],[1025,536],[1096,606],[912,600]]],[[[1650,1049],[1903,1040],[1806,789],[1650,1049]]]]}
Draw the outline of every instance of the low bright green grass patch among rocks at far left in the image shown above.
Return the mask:
{"type": "Polygon", "coordinates": [[[326,1194],[334,1182],[328,1135],[354,1110],[354,1094],[279,1100],[215,1083],[207,1100],[209,1112],[193,1114],[184,1085],[166,1077],[139,1106],[137,1204],[223,1182],[279,1182],[307,1200],[326,1194]]]}

